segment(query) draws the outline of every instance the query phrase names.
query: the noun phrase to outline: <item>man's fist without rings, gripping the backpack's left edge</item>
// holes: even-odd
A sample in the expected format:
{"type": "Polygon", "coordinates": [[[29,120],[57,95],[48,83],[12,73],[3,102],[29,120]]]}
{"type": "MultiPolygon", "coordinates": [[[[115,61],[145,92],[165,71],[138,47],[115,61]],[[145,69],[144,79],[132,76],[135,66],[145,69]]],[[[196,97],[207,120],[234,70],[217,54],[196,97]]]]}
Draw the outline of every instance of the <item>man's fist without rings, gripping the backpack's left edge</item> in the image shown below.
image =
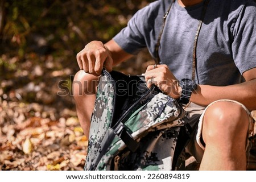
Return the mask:
{"type": "Polygon", "coordinates": [[[100,41],[88,43],[76,56],[79,68],[86,73],[100,76],[103,67],[108,72],[112,71],[113,60],[110,51],[100,41]]]}

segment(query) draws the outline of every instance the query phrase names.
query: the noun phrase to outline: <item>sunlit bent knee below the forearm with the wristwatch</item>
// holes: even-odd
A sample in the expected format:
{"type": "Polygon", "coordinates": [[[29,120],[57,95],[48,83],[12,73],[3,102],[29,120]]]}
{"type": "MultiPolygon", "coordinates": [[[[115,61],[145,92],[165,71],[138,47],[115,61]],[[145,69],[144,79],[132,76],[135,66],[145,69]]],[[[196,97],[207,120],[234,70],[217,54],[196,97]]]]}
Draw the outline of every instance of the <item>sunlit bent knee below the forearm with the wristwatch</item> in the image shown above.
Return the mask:
{"type": "Polygon", "coordinates": [[[218,101],[209,106],[204,115],[203,138],[209,140],[246,141],[249,117],[246,110],[235,102],[218,101]]]}

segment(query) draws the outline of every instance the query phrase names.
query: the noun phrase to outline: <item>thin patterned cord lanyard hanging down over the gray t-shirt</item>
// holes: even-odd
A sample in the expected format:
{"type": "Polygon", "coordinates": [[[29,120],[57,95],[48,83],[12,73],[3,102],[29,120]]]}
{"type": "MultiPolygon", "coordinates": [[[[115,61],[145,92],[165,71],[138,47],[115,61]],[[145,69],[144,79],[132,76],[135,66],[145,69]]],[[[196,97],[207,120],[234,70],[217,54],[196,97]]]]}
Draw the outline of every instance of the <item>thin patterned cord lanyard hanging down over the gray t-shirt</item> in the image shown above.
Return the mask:
{"type": "MultiPolygon", "coordinates": [[[[163,27],[162,27],[162,30],[160,31],[160,34],[158,36],[158,42],[156,43],[156,46],[155,46],[155,52],[156,52],[155,63],[156,64],[160,63],[160,57],[159,57],[160,40],[161,40],[161,37],[162,37],[162,34],[163,34],[164,26],[166,24],[167,15],[170,13],[172,4],[174,2],[175,2],[175,0],[172,1],[171,5],[168,7],[168,10],[166,11],[166,14],[164,14],[164,16],[163,16],[163,27]]],[[[209,3],[209,0],[205,0],[204,1],[203,10],[202,10],[202,13],[201,13],[199,24],[197,26],[196,35],[195,35],[195,39],[194,39],[194,43],[193,43],[192,80],[195,80],[195,76],[196,76],[196,47],[197,47],[197,39],[199,37],[199,32],[200,32],[202,24],[203,24],[203,20],[204,20],[204,16],[205,16],[205,13],[206,13],[206,10],[207,10],[208,3],[209,3]]]]}

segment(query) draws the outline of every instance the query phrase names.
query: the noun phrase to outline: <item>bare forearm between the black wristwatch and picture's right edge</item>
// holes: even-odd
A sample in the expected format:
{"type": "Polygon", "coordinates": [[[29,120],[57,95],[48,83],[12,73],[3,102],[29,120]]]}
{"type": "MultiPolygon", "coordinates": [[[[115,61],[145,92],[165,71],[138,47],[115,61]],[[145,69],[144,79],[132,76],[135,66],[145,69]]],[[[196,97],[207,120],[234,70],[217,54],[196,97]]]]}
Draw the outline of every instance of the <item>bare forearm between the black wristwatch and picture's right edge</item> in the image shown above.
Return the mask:
{"type": "Polygon", "coordinates": [[[203,106],[220,99],[236,100],[256,110],[256,79],[229,86],[199,85],[191,96],[191,102],[203,106]]]}

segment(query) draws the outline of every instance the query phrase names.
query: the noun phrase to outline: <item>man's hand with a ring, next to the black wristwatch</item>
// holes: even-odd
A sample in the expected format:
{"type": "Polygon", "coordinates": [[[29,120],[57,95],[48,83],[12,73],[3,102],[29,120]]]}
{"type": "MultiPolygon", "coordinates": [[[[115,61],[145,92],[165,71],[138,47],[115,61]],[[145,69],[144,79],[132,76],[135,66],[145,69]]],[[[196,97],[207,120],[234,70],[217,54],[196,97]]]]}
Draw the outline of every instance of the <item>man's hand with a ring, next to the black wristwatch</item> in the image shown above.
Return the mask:
{"type": "Polygon", "coordinates": [[[145,78],[148,88],[152,84],[158,86],[163,93],[172,98],[179,98],[181,87],[177,78],[172,74],[167,65],[150,65],[147,67],[145,78]]]}

